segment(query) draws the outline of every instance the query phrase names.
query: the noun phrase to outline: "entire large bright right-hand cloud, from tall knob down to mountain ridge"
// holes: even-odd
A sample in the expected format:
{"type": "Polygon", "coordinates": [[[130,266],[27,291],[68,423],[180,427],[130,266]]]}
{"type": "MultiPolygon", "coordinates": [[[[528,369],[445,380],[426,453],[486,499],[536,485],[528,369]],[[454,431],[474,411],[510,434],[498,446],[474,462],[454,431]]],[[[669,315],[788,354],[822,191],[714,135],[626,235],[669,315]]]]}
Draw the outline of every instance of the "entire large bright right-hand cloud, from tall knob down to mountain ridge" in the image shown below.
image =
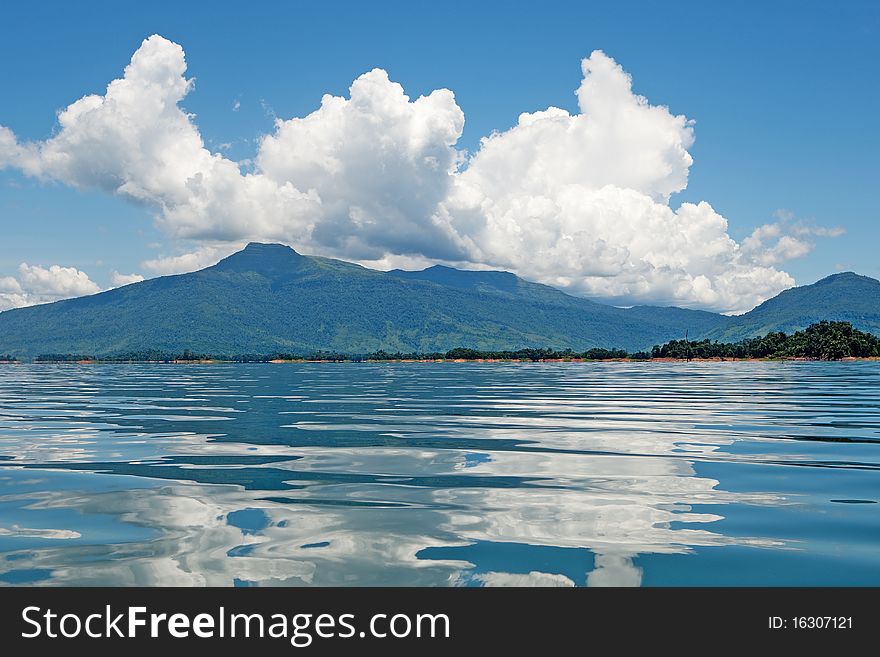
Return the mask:
{"type": "Polygon", "coordinates": [[[472,260],[621,303],[747,310],[790,287],[743,257],[687,185],[692,123],[652,106],[600,51],[582,63],[580,113],[550,108],[483,140],[444,211],[472,260]]]}

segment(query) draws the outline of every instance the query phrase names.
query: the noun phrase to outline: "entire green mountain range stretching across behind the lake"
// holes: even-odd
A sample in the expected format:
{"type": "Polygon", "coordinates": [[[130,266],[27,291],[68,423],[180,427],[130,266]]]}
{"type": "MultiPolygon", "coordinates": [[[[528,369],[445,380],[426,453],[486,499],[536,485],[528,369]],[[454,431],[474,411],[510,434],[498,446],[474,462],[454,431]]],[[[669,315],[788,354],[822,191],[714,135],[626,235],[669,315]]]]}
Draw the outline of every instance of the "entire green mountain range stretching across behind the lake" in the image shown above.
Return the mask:
{"type": "Polygon", "coordinates": [[[880,282],[835,274],[728,317],[675,307],[617,308],[508,272],[444,266],[383,272],[252,243],[196,272],[2,312],[0,354],[364,354],[460,346],[635,351],[686,331],[694,339],[730,341],[821,319],[880,333],[880,282]]]}

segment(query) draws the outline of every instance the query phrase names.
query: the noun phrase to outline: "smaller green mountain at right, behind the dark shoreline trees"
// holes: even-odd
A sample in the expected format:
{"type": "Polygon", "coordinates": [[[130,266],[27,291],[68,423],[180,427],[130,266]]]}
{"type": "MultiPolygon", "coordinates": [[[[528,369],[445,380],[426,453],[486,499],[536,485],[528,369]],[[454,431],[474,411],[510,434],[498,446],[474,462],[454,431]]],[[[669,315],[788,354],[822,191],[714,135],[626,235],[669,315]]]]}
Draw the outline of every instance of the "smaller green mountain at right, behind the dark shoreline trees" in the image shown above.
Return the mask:
{"type": "Polygon", "coordinates": [[[861,331],[880,335],[880,281],[844,272],[812,285],[793,287],[729,318],[726,324],[707,331],[705,337],[738,342],[771,331],[800,331],[823,319],[850,322],[861,331]]]}

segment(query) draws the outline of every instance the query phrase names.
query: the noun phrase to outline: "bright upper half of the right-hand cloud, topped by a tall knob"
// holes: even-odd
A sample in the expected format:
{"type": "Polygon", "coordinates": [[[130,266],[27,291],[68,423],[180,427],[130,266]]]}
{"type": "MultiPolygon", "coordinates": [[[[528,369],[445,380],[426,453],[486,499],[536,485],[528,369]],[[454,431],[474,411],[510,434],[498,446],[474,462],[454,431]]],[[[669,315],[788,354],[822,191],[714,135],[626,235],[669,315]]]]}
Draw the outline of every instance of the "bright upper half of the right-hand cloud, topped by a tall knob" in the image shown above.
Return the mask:
{"type": "Polygon", "coordinates": [[[482,140],[462,179],[491,199],[558,196],[571,185],[631,189],[665,201],[687,186],[693,127],[684,116],[649,105],[601,51],[581,64],[580,113],[550,107],[524,113],[516,126],[482,140]]]}

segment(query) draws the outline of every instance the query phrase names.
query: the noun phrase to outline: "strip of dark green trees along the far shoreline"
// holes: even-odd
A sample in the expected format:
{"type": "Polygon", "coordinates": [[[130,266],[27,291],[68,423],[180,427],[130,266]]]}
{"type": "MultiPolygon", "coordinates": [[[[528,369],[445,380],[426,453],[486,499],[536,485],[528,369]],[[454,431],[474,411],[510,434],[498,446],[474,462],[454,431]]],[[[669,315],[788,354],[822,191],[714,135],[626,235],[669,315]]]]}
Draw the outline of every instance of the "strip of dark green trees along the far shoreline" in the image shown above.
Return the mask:
{"type": "MultiPolygon", "coordinates": [[[[656,345],[650,353],[644,351],[627,352],[623,349],[587,349],[586,351],[562,351],[554,349],[524,348],[510,350],[480,350],[456,347],[445,352],[389,352],[374,351],[367,354],[344,354],[337,351],[319,350],[308,355],[273,352],[270,354],[216,355],[196,353],[189,349],[180,353],[163,352],[155,349],[127,351],[106,356],[86,356],[82,354],[43,354],[37,356],[38,363],[66,363],[80,361],[99,362],[202,362],[226,361],[239,363],[267,363],[272,361],[398,361],[398,360],[511,360],[511,361],[570,361],[570,360],[647,360],[652,358],[674,359],[749,359],[749,358],[807,358],[816,360],[839,360],[841,358],[880,357],[880,338],[853,328],[849,322],[822,321],[811,325],[805,331],[792,335],[771,332],[762,338],[741,342],[713,342],[704,340],[671,340],[656,345]]],[[[3,360],[0,357],[0,360],[3,360]]]]}

